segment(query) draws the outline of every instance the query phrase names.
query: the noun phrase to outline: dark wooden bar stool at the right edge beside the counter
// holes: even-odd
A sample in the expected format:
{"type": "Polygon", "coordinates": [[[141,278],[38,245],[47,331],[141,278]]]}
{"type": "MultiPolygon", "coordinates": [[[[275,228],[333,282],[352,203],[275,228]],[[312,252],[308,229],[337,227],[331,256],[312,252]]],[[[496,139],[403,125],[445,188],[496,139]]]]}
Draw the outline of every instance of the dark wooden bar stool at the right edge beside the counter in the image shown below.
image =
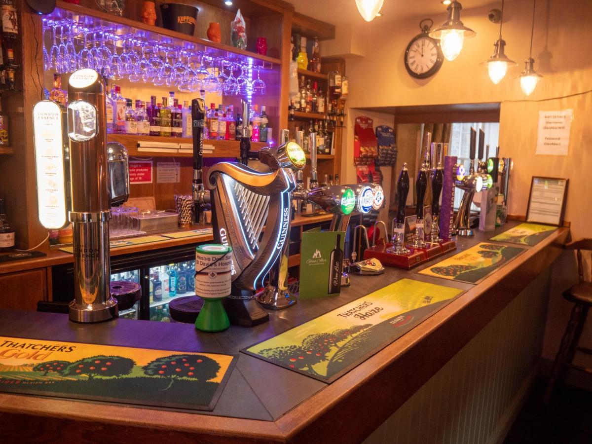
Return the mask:
{"type": "Polygon", "coordinates": [[[571,363],[574,359],[576,350],[578,352],[592,355],[592,350],[578,347],[578,340],[580,340],[586,317],[588,316],[588,309],[592,306],[592,282],[584,280],[584,266],[582,260],[582,250],[592,251],[592,239],[576,240],[565,244],[564,248],[567,250],[577,250],[576,256],[578,259],[578,275],[580,276],[580,282],[563,293],[563,297],[575,305],[571,310],[570,321],[567,324],[567,328],[561,339],[559,351],[557,352],[557,356],[555,356],[555,361],[551,368],[551,376],[549,377],[545,390],[545,401],[549,401],[555,383],[558,379],[562,379],[565,376],[565,372],[568,368],[592,374],[592,369],[587,369],[571,363]]]}

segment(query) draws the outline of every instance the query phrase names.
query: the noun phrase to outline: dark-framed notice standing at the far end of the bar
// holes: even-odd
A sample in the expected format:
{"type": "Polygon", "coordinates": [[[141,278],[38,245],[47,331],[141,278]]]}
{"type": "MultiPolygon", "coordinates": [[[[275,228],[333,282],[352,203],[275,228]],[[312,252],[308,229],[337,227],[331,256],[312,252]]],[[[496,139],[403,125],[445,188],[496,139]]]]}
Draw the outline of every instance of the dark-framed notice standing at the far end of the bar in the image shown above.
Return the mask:
{"type": "Polygon", "coordinates": [[[530,183],[526,221],[561,225],[569,182],[570,179],[533,176],[530,183]]]}

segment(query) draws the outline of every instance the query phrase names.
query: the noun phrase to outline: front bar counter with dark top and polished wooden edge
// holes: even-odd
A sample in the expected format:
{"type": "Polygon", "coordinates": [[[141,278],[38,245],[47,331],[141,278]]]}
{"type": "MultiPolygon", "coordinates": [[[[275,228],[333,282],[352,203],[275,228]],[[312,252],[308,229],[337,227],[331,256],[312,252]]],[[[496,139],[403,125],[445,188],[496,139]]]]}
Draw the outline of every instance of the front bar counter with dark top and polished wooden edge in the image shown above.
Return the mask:
{"type": "MultiPolygon", "coordinates": [[[[515,226],[509,222],[504,230],[515,226]]],[[[500,232],[498,229],[496,232],[500,232]]],[[[176,442],[361,442],[401,407],[459,350],[558,257],[569,233],[559,228],[477,285],[387,268],[383,275],[352,275],[338,297],[299,301],[270,313],[270,321],[217,334],[191,324],[119,319],[80,325],[66,315],[0,311],[0,335],[238,354],[239,359],[212,412],[143,408],[0,393],[0,416],[8,441],[103,442],[175,439],[176,442]],[[410,332],[325,384],[239,350],[401,278],[455,287],[465,292],[410,332]],[[89,433],[91,435],[89,435],[89,433]]],[[[427,262],[433,265],[493,234],[457,239],[457,249],[427,262]]]]}

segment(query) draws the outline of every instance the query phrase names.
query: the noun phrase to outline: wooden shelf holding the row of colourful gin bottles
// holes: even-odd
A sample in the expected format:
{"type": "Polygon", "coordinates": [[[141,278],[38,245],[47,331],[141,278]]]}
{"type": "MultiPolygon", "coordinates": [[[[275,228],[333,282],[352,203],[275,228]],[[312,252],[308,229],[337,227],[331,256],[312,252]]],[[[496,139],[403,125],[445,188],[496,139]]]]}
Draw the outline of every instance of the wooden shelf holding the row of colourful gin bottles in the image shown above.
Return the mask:
{"type": "MultiPolygon", "coordinates": [[[[138,142],[159,142],[159,143],[192,143],[188,137],[164,137],[164,136],[133,136],[131,134],[108,134],[108,141],[121,143],[126,147],[127,153],[134,157],[193,157],[192,153],[179,152],[149,152],[139,151],[138,142]]],[[[239,157],[240,140],[204,140],[204,146],[214,146],[213,153],[204,153],[204,157],[239,157]]],[[[251,149],[259,150],[267,146],[265,142],[252,142],[251,149]]]]}

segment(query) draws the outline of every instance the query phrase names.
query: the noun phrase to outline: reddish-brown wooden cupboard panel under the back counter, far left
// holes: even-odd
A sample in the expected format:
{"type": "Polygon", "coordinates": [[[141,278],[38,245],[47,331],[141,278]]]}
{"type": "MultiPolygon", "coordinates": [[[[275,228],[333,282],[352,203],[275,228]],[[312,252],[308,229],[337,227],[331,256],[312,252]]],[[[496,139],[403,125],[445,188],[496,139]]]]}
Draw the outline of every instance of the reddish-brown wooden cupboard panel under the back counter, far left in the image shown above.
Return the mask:
{"type": "Polygon", "coordinates": [[[42,300],[47,300],[45,268],[0,276],[0,308],[34,311],[42,300]]]}

